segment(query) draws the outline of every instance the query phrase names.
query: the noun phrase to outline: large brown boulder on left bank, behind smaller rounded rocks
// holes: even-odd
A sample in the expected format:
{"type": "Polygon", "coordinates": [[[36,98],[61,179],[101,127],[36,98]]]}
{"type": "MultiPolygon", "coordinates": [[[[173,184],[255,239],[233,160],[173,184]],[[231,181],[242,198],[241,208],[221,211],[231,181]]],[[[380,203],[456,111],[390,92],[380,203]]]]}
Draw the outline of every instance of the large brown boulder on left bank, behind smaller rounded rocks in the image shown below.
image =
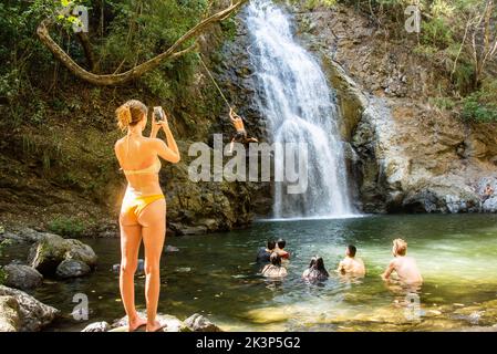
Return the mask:
{"type": "Polygon", "coordinates": [[[63,239],[53,233],[45,233],[33,244],[28,256],[28,262],[44,275],[52,275],[63,260],[77,260],[93,268],[97,257],[93,249],[79,240],[63,239]]]}

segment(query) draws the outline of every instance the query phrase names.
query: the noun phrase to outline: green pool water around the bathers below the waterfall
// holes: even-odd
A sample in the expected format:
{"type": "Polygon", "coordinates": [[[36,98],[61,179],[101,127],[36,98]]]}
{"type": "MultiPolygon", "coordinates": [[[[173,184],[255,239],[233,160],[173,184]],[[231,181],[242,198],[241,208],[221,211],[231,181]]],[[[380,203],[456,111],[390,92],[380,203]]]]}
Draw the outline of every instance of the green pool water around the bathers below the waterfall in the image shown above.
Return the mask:
{"type": "MultiPolygon", "coordinates": [[[[124,312],[118,298],[118,239],[87,239],[100,257],[86,278],[45,281],[33,294],[63,311],[51,330],[74,331],[95,321],[112,322],[124,312]],[[70,313],[72,295],[90,299],[90,320],[70,313]]],[[[497,216],[373,216],[342,220],[256,222],[247,230],[168,238],[179,252],[162,259],[159,312],[185,319],[199,312],[227,331],[438,331],[497,323],[497,216]],[[292,257],[289,275],[267,281],[253,264],[268,238],[282,237],[292,257]],[[425,283],[421,317],[407,319],[405,293],[380,279],[391,259],[392,239],[408,242],[425,283]],[[333,270],[344,247],[354,243],[367,269],[365,279],[346,281],[332,274],[324,283],[300,277],[314,254],[333,270]],[[495,304],[495,302],[494,302],[495,304]]],[[[136,278],[138,309],[144,308],[144,279],[136,278]]]]}

